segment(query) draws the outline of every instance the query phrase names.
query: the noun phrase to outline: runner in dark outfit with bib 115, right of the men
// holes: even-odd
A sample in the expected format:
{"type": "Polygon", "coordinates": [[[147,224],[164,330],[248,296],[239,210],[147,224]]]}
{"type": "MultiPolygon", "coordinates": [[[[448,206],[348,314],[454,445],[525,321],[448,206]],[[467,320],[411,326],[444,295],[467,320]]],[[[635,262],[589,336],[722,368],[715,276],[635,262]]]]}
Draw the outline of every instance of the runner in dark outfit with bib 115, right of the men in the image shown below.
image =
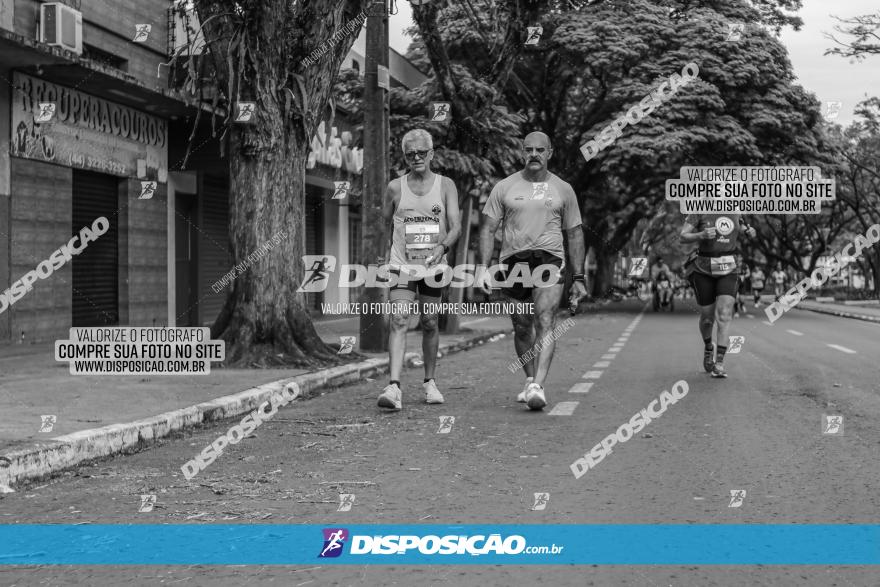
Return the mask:
{"type": "Polygon", "coordinates": [[[724,355],[739,278],[741,232],[755,236],[755,229],[742,223],[739,214],[691,214],[681,229],[682,244],[699,243],[688,256],[685,268],[700,306],[703,369],[712,377],[727,377],[724,355]],[[712,344],[715,324],[717,347],[712,344]]]}

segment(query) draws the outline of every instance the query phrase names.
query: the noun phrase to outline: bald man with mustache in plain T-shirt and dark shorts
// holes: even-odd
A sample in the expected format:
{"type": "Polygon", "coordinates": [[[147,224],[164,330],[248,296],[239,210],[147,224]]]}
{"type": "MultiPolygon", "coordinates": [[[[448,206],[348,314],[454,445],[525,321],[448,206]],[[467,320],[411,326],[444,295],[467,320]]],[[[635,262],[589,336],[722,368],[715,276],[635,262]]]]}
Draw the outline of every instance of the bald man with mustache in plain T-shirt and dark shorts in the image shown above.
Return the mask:
{"type": "MultiPolygon", "coordinates": [[[[535,344],[542,348],[536,356],[525,361],[526,382],[517,401],[531,410],[542,410],[547,405],[544,381],[553,361],[555,342],[550,335],[556,325],[556,312],[562,299],[565,248],[563,233],[568,240],[568,260],[574,271],[571,303],[587,295],[584,274],[584,234],[581,212],[571,185],[547,169],[553,156],[550,137],[542,132],[529,133],[523,141],[525,167],[498,182],[483,208],[480,229],[480,263],[476,286],[486,294],[492,291],[492,277],[486,270],[495,248],[495,233],[502,227],[500,263],[507,265],[500,279],[508,275],[522,275],[521,271],[536,274],[535,269],[545,266],[551,275],[550,283],[516,283],[501,288],[507,301],[534,304],[534,314],[515,313],[510,318],[514,328],[514,346],[517,356],[525,361],[535,344]],[[520,267],[515,267],[520,265],[520,267]],[[545,338],[546,337],[546,338],[545,338]]],[[[548,271],[543,272],[544,279],[548,271]]],[[[511,280],[513,281],[513,280],[511,280]]]]}

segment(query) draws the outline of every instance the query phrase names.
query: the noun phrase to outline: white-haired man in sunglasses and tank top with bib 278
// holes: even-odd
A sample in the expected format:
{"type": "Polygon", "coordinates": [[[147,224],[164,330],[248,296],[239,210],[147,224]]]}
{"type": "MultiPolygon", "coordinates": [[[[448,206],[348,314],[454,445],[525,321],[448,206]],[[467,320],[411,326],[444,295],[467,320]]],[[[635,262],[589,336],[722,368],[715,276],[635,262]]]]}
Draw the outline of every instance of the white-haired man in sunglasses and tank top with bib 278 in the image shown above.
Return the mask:
{"type": "Polygon", "coordinates": [[[411,130],[403,136],[401,147],[410,172],[388,184],[383,209],[386,223],[392,226],[388,263],[393,267],[396,283],[388,296],[392,305],[388,341],[391,382],[382,390],[379,406],[391,410],[400,410],[403,403],[400,373],[406,351],[408,308],[417,294],[425,364],[422,389],[427,403],[443,403],[443,395],[434,382],[440,346],[437,314],[427,311],[426,305],[440,302],[443,289],[432,274],[448,268],[446,253],[461,232],[458,190],[451,179],[431,171],[431,135],[424,129],[411,130]]]}

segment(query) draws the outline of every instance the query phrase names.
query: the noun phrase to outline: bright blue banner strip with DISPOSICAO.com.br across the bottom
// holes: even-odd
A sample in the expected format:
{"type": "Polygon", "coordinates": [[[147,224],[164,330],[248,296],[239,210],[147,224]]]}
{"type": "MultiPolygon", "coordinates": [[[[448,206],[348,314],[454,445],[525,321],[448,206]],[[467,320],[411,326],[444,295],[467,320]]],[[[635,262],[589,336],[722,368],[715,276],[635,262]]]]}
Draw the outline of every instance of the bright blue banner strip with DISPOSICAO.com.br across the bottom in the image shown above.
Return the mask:
{"type": "Polygon", "coordinates": [[[4,565],[878,565],[880,525],[5,524],[4,565]]]}

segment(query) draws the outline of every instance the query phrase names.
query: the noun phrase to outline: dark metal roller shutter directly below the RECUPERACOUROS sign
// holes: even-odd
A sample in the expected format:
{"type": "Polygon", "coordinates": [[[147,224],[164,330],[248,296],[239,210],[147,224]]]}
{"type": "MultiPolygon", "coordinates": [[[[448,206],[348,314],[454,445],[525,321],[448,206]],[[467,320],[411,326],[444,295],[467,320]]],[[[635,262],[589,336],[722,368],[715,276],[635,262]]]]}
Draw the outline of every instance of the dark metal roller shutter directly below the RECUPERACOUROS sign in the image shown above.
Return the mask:
{"type": "Polygon", "coordinates": [[[112,175],[73,172],[73,227],[79,234],[96,218],[110,230],[73,257],[73,326],[119,324],[119,180],[112,175]]]}

